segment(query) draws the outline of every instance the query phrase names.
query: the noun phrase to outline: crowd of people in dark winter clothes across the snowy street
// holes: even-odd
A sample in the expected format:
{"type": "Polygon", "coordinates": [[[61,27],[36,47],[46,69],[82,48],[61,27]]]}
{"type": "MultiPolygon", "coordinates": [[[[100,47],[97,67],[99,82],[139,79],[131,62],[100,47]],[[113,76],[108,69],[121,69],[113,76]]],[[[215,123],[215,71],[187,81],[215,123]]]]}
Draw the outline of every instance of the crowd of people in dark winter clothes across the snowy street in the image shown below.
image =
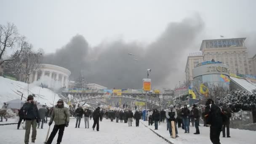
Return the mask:
{"type": "MultiPolygon", "coordinates": [[[[7,121],[6,112],[8,104],[4,103],[1,111],[1,121],[3,117],[7,121]]],[[[145,114],[144,114],[145,115],[145,114]]],[[[97,107],[94,111],[88,107],[83,107],[78,105],[77,109],[75,107],[64,107],[64,101],[59,100],[55,107],[50,109],[43,105],[40,109],[37,109],[37,104],[33,101],[33,96],[29,95],[27,97],[27,103],[25,103],[19,110],[19,122],[17,129],[19,129],[22,121],[25,123],[25,144],[29,143],[29,134],[32,128],[32,143],[36,139],[36,129],[43,128],[44,123],[48,122],[47,117],[51,117],[48,125],[54,121],[54,128],[51,132],[51,135],[48,138],[48,141],[45,144],[51,144],[56,133],[59,131],[57,144],[61,143],[62,136],[64,133],[64,128],[69,125],[69,116],[76,117],[75,128],[80,128],[81,119],[84,117],[85,128],[89,128],[90,119],[93,118],[93,130],[99,131],[99,121],[102,121],[103,118],[110,120],[111,122],[116,123],[128,123],[128,126],[132,126],[133,120],[136,121],[136,127],[139,127],[139,120],[143,119],[142,111],[136,110],[135,113],[131,109],[123,110],[106,110],[97,107]]],[[[155,125],[155,130],[158,130],[158,125],[160,123],[165,123],[167,131],[169,131],[170,136],[173,137],[171,121],[174,121],[176,137],[178,135],[178,128],[182,128],[184,133],[190,133],[189,125],[195,126],[195,133],[200,134],[199,122],[200,118],[203,120],[204,126],[210,126],[210,139],[213,144],[219,144],[219,136],[222,131],[223,137],[230,137],[229,133],[229,118],[232,116],[231,110],[229,107],[219,107],[214,104],[212,99],[208,99],[204,107],[197,107],[196,104],[193,104],[192,108],[188,108],[187,105],[183,107],[175,107],[170,105],[168,109],[149,109],[146,113],[146,119],[148,120],[148,125],[155,125]]]]}

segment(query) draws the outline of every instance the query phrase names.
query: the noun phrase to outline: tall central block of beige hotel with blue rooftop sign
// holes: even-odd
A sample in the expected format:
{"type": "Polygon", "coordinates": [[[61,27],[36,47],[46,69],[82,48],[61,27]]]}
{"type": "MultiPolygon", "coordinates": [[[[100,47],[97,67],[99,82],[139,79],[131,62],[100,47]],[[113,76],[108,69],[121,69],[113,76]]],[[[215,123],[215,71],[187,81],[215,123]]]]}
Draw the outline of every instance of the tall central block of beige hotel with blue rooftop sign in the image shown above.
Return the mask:
{"type": "Polygon", "coordinates": [[[200,51],[203,61],[221,61],[229,66],[230,73],[251,75],[248,63],[246,38],[203,40],[200,51]]]}

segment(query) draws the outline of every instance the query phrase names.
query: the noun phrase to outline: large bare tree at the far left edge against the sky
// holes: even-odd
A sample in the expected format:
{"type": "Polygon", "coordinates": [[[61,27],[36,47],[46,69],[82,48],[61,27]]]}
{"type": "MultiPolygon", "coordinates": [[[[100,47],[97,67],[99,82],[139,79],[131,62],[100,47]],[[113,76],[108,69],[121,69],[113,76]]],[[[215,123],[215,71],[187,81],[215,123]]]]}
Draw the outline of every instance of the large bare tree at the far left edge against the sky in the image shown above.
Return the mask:
{"type": "Polygon", "coordinates": [[[24,39],[24,37],[19,35],[17,27],[14,24],[0,24],[0,65],[5,61],[12,61],[19,56],[17,55],[9,59],[4,58],[4,54],[8,49],[13,49],[13,52],[16,51],[15,49],[19,49],[19,53],[21,53],[24,39]]]}

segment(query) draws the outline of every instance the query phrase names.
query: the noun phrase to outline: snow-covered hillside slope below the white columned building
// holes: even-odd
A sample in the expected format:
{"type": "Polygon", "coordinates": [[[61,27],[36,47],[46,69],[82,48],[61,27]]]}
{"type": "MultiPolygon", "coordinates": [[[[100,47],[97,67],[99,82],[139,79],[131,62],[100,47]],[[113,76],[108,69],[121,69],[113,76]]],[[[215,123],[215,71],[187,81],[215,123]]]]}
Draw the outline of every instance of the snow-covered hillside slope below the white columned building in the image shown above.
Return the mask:
{"type": "MultiPolygon", "coordinates": [[[[27,83],[0,77],[0,107],[3,106],[3,102],[21,99],[18,91],[24,93],[22,100],[25,101],[28,96],[27,87],[27,83]]],[[[55,105],[60,99],[58,94],[48,88],[42,88],[33,83],[29,84],[29,94],[32,93],[37,95],[34,98],[35,101],[40,102],[40,104],[46,104],[49,107],[55,105]]]]}

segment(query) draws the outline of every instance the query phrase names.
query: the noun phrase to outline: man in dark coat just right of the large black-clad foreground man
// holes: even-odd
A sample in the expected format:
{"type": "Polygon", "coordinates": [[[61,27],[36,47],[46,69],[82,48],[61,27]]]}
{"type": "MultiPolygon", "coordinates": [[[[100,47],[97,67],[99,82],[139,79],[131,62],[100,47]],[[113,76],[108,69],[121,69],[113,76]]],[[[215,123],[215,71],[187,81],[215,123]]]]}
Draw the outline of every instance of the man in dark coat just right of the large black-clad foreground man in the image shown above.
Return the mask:
{"type": "Polygon", "coordinates": [[[225,129],[227,128],[227,137],[230,138],[229,135],[229,118],[232,117],[231,111],[229,110],[229,108],[227,108],[226,106],[222,107],[222,112],[223,112],[223,126],[222,126],[222,136],[225,137],[226,136],[226,131],[225,129]]]}

